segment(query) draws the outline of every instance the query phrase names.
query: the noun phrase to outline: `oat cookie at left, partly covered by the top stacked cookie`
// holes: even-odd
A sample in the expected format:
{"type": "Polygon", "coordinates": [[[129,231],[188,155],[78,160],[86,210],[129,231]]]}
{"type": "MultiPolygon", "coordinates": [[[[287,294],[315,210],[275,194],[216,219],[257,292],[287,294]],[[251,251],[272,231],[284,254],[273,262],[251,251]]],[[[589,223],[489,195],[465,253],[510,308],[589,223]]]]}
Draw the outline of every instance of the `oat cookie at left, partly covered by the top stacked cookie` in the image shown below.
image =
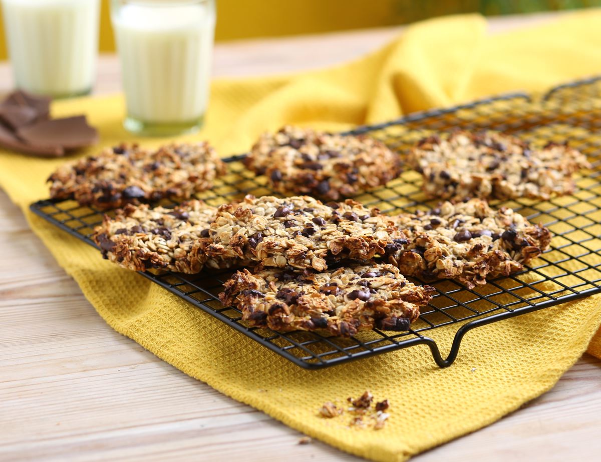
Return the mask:
{"type": "Polygon", "coordinates": [[[175,208],[127,204],[114,218],[105,215],[93,239],[103,257],[134,271],[198,273],[204,266],[224,268],[237,262],[206,255],[216,213],[216,207],[197,200],[175,208]]]}

